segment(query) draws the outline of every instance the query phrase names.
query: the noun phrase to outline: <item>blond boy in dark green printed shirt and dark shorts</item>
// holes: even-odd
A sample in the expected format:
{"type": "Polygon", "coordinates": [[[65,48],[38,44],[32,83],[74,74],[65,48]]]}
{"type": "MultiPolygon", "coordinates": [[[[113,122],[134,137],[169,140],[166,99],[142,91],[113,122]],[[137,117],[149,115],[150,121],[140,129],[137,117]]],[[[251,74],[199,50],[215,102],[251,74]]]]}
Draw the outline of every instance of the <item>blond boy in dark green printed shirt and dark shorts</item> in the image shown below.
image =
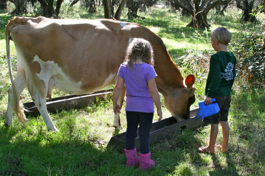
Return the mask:
{"type": "Polygon", "coordinates": [[[227,44],[231,41],[231,33],[225,27],[218,27],[211,35],[212,47],[217,52],[210,58],[210,69],[207,77],[204,104],[211,104],[215,98],[220,112],[203,119],[203,122],[211,124],[210,142],[206,147],[198,147],[198,151],[214,154],[214,147],[228,153],[228,110],[230,108],[230,90],[236,76],[236,58],[233,53],[227,51],[227,44]],[[223,133],[222,145],[215,144],[218,135],[218,124],[221,123],[223,133]]]}

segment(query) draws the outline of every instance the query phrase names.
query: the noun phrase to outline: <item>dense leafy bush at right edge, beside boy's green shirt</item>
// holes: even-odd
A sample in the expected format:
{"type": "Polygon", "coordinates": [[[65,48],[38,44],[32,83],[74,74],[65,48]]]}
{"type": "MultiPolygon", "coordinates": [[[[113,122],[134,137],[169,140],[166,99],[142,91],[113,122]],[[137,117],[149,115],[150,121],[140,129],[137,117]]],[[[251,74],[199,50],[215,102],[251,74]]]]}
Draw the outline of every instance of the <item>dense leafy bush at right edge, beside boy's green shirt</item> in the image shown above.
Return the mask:
{"type": "Polygon", "coordinates": [[[251,85],[265,83],[265,32],[241,33],[230,45],[237,58],[237,73],[251,85]]]}

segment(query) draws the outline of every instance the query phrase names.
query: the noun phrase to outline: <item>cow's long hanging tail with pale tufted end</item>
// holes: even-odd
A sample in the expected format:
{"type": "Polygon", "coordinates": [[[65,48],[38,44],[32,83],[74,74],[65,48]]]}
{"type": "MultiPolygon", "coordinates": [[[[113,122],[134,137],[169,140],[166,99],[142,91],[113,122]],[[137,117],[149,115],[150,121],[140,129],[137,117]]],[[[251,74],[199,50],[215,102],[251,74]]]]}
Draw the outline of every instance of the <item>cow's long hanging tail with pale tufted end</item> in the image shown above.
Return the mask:
{"type": "MultiPolygon", "coordinates": [[[[15,26],[16,25],[10,24],[10,21],[6,25],[6,54],[7,54],[8,71],[9,71],[9,76],[10,76],[10,80],[11,80],[12,106],[13,106],[15,113],[17,114],[19,121],[25,122],[27,120],[27,118],[25,117],[25,114],[24,114],[25,108],[24,108],[24,105],[20,102],[19,96],[17,96],[16,85],[14,82],[14,77],[13,77],[13,73],[12,73],[11,58],[10,58],[10,46],[9,46],[10,33],[11,33],[12,28],[15,26]]],[[[8,91],[10,91],[10,90],[8,90],[8,91]]]]}

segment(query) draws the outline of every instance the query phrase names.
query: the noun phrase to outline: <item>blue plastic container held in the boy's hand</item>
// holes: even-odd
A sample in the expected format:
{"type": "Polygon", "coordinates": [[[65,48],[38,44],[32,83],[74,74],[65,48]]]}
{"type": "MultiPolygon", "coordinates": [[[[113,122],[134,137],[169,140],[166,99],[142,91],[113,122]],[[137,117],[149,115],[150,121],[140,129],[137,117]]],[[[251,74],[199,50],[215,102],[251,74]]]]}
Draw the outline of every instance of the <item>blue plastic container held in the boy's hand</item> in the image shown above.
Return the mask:
{"type": "Polygon", "coordinates": [[[209,117],[211,115],[217,114],[220,111],[218,103],[215,102],[215,99],[212,99],[212,104],[205,105],[204,101],[199,101],[199,112],[196,115],[196,119],[202,119],[209,117]]]}

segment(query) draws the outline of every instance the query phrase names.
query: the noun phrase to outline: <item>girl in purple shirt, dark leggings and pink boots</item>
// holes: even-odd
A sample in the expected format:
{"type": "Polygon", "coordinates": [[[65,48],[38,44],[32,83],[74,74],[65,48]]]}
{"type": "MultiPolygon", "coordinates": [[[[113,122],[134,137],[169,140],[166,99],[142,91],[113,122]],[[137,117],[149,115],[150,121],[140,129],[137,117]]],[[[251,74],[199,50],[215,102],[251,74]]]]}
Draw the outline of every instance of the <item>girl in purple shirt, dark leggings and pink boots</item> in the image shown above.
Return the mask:
{"type": "Polygon", "coordinates": [[[158,121],[162,119],[160,97],[156,88],[156,72],[153,68],[153,49],[149,41],[134,38],[126,50],[125,62],[121,64],[113,91],[113,111],[120,112],[117,103],[123,84],[126,88],[126,166],[139,169],[153,167],[150,159],[150,130],[153,122],[154,103],[157,107],[158,121]],[[139,124],[140,151],[137,157],[135,138],[139,124]]]}

